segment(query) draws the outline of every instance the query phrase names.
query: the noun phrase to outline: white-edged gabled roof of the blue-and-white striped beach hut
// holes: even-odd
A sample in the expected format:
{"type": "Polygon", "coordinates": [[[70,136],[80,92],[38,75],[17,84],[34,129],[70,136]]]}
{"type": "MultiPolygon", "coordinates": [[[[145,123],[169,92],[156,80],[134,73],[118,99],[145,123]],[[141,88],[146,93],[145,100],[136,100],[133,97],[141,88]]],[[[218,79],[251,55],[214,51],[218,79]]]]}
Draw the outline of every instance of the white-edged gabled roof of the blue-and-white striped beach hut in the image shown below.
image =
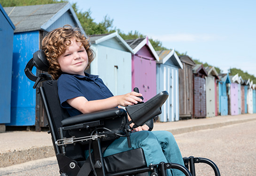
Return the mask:
{"type": "Polygon", "coordinates": [[[165,63],[169,59],[175,64],[180,69],[183,69],[183,65],[181,61],[178,58],[178,55],[176,54],[175,50],[161,50],[161,51],[156,51],[156,53],[159,56],[159,61],[157,63],[165,63]]]}

